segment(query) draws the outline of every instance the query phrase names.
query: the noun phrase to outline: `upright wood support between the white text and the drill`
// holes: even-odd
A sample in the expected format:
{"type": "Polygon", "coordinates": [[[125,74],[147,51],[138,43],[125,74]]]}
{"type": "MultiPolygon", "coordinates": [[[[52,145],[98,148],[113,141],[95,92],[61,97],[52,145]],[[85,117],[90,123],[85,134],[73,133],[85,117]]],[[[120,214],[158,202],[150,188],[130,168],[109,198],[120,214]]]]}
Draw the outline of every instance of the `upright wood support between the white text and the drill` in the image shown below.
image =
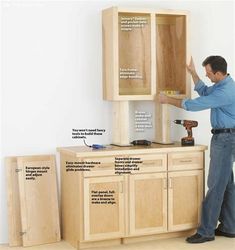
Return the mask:
{"type": "Polygon", "coordinates": [[[161,144],[171,144],[171,120],[169,105],[155,103],[155,141],[161,144]]]}

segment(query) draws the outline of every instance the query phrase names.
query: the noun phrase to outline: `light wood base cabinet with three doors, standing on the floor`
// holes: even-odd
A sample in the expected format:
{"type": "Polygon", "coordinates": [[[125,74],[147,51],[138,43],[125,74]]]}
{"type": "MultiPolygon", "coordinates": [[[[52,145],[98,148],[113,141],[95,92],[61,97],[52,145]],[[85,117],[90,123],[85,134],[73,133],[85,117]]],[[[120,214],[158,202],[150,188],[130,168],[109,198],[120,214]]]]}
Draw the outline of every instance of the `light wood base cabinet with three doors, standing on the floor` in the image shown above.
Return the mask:
{"type": "Polygon", "coordinates": [[[196,228],[205,149],[112,147],[102,154],[60,148],[63,239],[77,248],[97,247],[196,228]],[[134,168],[117,173],[124,163],[134,168]],[[88,165],[89,171],[76,171],[88,165]]]}

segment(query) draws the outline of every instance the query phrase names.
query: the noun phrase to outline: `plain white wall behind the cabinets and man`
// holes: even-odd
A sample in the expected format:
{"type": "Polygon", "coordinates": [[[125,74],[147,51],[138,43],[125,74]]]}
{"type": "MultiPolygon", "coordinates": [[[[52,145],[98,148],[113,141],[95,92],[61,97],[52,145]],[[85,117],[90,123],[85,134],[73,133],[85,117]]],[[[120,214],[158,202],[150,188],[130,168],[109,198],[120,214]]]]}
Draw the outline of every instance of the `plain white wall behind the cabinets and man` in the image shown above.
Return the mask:
{"type": "MultiPolygon", "coordinates": [[[[112,141],[111,103],[102,99],[101,26],[101,11],[111,6],[189,10],[191,51],[201,78],[207,80],[202,61],[215,54],[226,58],[235,77],[233,1],[1,1],[0,243],[8,241],[4,157],[82,145],[72,140],[72,128],[104,128],[102,137],[88,143],[112,141]]],[[[153,107],[134,102],[131,110],[153,107]]],[[[209,111],[171,113],[172,120],[198,120],[196,143],[209,145],[209,111]]],[[[184,135],[183,127],[172,125],[174,140],[184,135]]]]}

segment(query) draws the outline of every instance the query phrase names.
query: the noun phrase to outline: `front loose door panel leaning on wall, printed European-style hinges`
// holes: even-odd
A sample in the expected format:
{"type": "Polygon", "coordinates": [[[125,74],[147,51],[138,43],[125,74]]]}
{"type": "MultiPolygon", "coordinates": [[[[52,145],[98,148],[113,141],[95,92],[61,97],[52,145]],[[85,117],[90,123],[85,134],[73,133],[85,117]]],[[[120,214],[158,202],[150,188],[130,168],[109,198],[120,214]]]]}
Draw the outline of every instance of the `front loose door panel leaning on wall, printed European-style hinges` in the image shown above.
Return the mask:
{"type": "Polygon", "coordinates": [[[17,157],[24,246],[60,240],[55,156],[17,157]]]}

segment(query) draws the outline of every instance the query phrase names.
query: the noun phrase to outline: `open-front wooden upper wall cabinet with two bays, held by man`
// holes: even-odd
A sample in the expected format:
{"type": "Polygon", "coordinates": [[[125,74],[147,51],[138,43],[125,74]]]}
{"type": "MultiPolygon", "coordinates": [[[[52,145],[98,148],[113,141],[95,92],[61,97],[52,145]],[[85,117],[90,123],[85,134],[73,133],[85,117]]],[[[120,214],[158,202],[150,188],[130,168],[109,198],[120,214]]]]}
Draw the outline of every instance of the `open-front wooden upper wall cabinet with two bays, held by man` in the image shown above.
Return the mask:
{"type": "Polygon", "coordinates": [[[103,10],[105,100],[154,100],[160,91],[188,95],[187,13],[103,10]]]}

